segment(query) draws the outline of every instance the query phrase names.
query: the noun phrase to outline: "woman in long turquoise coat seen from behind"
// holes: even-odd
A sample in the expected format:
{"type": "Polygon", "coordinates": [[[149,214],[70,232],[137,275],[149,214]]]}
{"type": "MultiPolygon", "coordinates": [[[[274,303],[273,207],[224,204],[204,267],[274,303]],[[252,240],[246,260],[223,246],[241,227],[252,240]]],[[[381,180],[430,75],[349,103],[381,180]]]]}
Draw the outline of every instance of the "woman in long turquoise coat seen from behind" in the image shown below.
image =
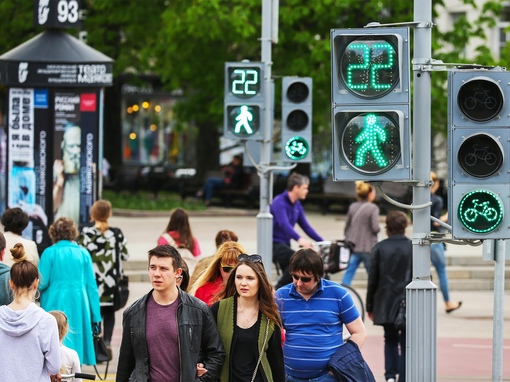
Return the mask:
{"type": "Polygon", "coordinates": [[[96,364],[92,323],[101,322],[99,295],[87,250],[74,240],[78,230],[69,218],[50,226],[53,245],[44,250],[39,263],[41,307],[63,311],[69,323],[64,345],[76,350],[80,362],[96,364]]]}

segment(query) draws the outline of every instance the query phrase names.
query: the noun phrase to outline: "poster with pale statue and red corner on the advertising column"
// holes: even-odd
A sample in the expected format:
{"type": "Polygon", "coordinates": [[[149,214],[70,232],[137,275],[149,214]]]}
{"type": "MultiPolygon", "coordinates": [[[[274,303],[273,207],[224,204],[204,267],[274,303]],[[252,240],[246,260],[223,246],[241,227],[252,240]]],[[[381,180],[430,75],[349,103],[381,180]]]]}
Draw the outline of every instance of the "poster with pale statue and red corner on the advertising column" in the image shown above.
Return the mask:
{"type": "Polygon", "coordinates": [[[53,213],[89,223],[97,169],[98,105],[96,92],[55,92],[53,213]]]}

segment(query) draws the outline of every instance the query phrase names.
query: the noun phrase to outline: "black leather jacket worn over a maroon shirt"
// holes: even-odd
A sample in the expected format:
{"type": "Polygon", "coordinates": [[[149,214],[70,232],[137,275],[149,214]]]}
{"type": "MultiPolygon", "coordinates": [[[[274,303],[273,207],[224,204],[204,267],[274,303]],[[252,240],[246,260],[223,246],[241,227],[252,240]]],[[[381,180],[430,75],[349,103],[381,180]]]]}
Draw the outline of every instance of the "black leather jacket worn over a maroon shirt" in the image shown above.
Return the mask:
{"type": "MultiPolygon", "coordinates": [[[[150,379],[145,318],[147,300],[152,292],[124,311],[117,382],[147,382],[150,379]]],[[[216,381],[220,376],[225,351],[211,310],[205,303],[180,289],[179,300],[177,321],[181,382],[216,381]],[[196,377],[198,362],[202,362],[207,369],[201,379],[196,377]]]]}

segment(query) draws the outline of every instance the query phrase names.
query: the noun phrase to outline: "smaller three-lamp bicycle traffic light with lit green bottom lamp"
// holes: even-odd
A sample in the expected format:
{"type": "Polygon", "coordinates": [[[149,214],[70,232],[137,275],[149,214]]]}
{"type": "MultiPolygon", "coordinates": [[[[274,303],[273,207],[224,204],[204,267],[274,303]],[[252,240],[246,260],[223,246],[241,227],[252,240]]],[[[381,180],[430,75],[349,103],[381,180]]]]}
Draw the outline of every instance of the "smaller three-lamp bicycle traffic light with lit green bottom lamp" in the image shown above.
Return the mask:
{"type": "Polygon", "coordinates": [[[312,161],[312,79],[283,77],[282,156],[284,162],[312,161]]]}

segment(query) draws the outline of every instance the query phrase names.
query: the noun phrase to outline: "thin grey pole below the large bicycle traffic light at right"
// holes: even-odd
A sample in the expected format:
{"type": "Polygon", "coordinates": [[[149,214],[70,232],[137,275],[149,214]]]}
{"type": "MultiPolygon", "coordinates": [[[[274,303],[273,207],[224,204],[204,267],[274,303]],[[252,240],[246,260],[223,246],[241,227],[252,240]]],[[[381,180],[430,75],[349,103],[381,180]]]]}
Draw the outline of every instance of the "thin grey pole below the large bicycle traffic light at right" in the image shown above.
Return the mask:
{"type": "Polygon", "coordinates": [[[503,380],[503,325],[505,320],[506,240],[496,240],[494,254],[494,326],[492,342],[492,380],[503,380]]]}

